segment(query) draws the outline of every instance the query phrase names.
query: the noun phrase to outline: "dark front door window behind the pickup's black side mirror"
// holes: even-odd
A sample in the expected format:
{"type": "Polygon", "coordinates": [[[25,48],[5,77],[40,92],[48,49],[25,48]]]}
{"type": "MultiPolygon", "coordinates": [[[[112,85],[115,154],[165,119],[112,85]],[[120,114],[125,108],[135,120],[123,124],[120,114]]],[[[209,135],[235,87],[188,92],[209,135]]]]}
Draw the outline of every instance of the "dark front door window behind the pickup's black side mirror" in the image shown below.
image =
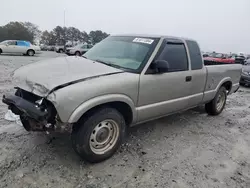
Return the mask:
{"type": "Polygon", "coordinates": [[[188,70],[187,52],[183,43],[167,43],[158,59],[168,62],[168,72],[188,70]]]}

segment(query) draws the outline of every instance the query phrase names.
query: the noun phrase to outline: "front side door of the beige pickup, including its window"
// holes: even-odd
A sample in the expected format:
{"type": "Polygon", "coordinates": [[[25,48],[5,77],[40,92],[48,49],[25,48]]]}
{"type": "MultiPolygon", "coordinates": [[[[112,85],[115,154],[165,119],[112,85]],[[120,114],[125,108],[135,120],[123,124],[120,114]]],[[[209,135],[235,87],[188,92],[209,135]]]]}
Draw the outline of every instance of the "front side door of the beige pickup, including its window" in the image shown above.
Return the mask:
{"type": "Polygon", "coordinates": [[[185,44],[182,41],[165,40],[156,59],[167,61],[169,70],[159,73],[150,65],[145,74],[141,75],[138,122],[165,116],[188,107],[192,77],[185,44]]]}

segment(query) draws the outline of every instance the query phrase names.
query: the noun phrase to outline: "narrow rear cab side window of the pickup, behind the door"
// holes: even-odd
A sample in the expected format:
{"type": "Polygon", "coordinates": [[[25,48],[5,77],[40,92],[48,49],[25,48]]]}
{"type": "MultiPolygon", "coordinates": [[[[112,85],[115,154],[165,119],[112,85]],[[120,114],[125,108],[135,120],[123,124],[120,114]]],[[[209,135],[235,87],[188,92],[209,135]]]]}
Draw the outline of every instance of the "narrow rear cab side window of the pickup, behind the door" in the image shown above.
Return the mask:
{"type": "Polygon", "coordinates": [[[198,44],[195,41],[191,40],[187,40],[186,43],[190,54],[192,70],[202,69],[203,61],[201,58],[201,52],[198,44]]]}

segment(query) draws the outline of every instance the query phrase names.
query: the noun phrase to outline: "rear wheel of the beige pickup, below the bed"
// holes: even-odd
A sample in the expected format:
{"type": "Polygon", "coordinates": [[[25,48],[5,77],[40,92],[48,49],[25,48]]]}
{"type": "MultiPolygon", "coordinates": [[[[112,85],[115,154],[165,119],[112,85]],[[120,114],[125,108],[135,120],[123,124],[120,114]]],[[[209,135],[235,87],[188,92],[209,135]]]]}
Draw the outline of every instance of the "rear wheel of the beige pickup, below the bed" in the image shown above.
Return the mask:
{"type": "Polygon", "coordinates": [[[224,86],[222,86],[216,93],[214,99],[205,105],[206,112],[209,115],[213,116],[219,115],[223,111],[226,105],[226,100],[227,100],[227,90],[224,86]],[[218,100],[223,100],[219,101],[220,102],[219,106],[218,106],[218,100]]]}

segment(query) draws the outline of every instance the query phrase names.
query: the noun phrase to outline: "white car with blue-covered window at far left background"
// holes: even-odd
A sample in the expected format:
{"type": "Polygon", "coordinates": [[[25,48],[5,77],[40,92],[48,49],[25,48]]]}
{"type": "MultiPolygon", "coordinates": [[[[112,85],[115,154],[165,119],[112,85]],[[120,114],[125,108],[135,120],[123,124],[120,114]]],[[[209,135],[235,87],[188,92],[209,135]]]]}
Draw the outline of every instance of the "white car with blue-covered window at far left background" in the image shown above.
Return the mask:
{"type": "Polygon", "coordinates": [[[0,43],[0,54],[1,53],[34,56],[35,54],[41,53],[41,48],[24,40],[5,40],[0,43]]]}

